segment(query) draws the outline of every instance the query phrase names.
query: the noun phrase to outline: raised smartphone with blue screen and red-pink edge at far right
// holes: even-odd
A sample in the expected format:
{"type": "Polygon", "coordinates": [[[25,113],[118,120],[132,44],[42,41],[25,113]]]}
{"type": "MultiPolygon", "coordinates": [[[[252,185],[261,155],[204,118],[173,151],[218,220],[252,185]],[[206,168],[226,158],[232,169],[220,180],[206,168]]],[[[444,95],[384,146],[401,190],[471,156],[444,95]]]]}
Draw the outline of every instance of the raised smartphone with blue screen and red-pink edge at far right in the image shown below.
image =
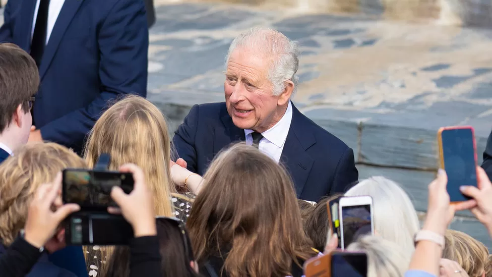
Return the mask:
{"type": "Polygon", "coordinates": [[[452,203],[469,197],[460,186],[477,186],[477,153],[474,130],[470,126],[443,127],[438,131],[439,160],[448,175],[448,194],[452,203]]]}

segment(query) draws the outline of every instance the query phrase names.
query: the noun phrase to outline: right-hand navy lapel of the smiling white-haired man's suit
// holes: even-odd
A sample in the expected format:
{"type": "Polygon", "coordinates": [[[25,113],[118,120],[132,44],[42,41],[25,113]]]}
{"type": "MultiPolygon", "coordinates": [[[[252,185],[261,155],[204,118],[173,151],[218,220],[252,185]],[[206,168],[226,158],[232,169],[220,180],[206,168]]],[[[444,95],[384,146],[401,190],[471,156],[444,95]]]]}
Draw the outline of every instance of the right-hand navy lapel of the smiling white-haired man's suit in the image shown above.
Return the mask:
{"type": "Polygon", "coordinates": [[[285,165],[294,181],[298,198],[301,196],[314,163],[306,150],[316,143],[313,134],[305,128],[303,118],[304,116],[292,104],[292,123],[280,157],[280,161],[285,165]]]}

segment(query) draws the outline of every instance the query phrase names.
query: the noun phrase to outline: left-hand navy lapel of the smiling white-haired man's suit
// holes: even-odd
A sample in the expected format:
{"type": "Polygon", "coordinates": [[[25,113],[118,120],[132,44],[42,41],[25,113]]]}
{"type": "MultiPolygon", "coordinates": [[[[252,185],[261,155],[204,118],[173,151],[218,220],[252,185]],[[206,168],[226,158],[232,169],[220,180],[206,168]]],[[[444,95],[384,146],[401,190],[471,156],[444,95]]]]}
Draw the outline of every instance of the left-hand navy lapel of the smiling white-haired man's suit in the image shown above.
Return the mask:
{"type": "Polygon", "coordinates": [[[234,125],[229,114],[224,115],[221,120],[224,127],[216,128],[214,130],[214,157],[220,150],[232,142],[245,140],[244,130],[239,129],[234,125]]]}

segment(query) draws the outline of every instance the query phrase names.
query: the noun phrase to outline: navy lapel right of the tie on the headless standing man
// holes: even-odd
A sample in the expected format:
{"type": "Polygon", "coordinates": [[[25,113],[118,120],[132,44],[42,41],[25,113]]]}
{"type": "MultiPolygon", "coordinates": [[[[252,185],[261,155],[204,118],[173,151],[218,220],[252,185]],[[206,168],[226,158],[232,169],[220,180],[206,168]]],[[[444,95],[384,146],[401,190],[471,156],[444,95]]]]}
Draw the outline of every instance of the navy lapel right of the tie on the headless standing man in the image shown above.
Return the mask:
{"type": "Polygon", "coordinates": [[[65,3],[63,4],[63,7],[61,8],[58,18],[54,24],[48,44],[46,44],[46,48],[44,49],[43,59],[41,66],[39,67],[39,76],[41,79],[44,77],[46,70],[51,64],[51,60],[58,49],[61,38],[65,34],[70,22],[72,22],[72,19],[79,10],[82,2],[84,2],[84,0],[65,0],[65,3]]]}

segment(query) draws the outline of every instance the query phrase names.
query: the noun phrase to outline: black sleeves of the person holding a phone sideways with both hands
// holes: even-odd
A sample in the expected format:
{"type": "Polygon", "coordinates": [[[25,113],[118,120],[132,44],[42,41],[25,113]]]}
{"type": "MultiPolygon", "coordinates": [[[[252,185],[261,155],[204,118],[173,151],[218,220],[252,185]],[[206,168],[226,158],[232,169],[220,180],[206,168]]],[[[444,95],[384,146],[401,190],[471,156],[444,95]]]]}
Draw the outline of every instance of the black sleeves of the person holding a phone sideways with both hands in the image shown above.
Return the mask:
{"type": "MultiPolygon", "coordinates": [[[[130,241],[130,277],[163,277],[157,236],[130,241]]],[[[18,237],[0,257],[0,276],[24,277],[38,262],[39,249],[18,237]]]]}

